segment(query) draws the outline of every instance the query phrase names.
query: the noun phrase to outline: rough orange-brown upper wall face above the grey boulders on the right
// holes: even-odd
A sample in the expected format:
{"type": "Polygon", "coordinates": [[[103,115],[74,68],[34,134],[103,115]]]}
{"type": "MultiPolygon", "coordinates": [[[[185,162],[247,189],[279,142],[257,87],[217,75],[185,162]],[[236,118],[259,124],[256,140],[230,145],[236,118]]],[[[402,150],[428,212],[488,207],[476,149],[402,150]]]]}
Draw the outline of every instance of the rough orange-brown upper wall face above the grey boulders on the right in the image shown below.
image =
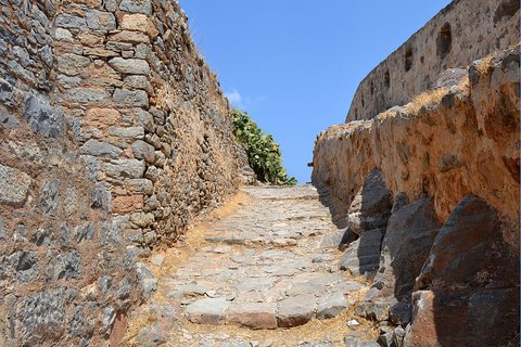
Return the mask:
{"type": "Polygon", "coordinates": [[[433,196],[441,220],[472,192],[499,211],[504,236],[517,247],[518,48],[474,62],[468,88],[450,88],[418,114],[399,107],[326,130],[315,146],[314,182],[345,208],[379,168],[393,195],[405,192],[411,202],[433,196]]]}

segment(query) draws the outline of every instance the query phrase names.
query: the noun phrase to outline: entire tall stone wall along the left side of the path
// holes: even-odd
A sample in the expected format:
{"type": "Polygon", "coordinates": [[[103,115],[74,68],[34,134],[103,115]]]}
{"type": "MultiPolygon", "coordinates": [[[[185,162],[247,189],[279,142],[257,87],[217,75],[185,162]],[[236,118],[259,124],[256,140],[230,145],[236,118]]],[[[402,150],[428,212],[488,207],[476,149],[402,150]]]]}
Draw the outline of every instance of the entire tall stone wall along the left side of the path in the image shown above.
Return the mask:
{"type": "Polygon", "coordinates": [[[240,183],[228,102],[175,1],[1,3],[0,346],[115,346],[240,183]]]}

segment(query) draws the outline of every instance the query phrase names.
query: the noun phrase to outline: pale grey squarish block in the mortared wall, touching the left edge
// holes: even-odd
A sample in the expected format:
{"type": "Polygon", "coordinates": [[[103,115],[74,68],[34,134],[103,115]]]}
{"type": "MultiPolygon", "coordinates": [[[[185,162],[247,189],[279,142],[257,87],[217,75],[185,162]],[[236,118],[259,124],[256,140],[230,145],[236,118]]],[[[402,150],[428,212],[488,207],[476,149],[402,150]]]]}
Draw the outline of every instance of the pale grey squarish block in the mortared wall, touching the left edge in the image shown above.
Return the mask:
{"type": "Polygon", "coordinates": [[[22,206],[27,198],[30,177],[12,167],[0,164],[0,203],[22,206]]]}

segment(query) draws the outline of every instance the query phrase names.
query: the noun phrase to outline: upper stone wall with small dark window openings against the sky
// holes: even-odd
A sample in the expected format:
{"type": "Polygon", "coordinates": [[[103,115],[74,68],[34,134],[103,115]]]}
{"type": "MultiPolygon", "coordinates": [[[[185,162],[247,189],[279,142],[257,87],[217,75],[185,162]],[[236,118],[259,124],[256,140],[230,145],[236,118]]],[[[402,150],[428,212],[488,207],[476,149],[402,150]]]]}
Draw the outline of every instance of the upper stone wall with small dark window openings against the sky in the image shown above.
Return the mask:
{"type": "Polygon", "coordinates": [[[404,105],[447,68],[519,42],[519,20],[517,0],[454,0],[364,78],[346,121],[404,105]]]}

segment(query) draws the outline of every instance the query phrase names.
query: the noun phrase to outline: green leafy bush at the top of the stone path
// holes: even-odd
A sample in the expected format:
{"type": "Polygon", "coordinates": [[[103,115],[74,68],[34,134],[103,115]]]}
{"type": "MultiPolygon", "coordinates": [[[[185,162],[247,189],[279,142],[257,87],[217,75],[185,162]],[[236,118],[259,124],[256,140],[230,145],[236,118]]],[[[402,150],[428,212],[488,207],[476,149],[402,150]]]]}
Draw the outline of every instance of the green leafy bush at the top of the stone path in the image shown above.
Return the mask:
{"type": "Polygon", "coordinates": [[[296,179],[288,177],[282,166],[280,147],[275,143],[274,137],[266,134],[243,111],[233,108],[231,118],[233,134],[246,151],[247,160],[257,179],[270,184],[294,185],[296,179]]]}

